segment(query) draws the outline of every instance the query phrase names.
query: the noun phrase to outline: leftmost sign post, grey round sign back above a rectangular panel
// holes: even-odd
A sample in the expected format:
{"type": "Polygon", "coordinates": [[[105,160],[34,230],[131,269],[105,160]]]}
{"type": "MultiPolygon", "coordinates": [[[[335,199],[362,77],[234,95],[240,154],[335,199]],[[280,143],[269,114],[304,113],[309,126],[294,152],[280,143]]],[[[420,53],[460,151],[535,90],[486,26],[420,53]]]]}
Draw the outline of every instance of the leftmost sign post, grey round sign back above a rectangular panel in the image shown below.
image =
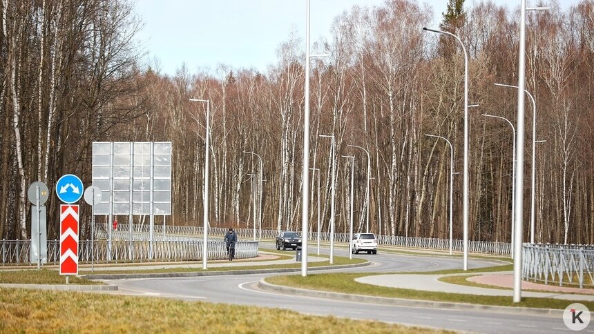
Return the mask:
{"type": "Polygon", "coordinates": [[[33,262],[35,259],[35,262],[37,262],[37,269],[41,268],[41,261],[43,260],[45,263],[48,258],[46,207],[43,205],[46,204],[48,195],[48,186],[40,181],[33,182],[27,190],[27,198],[29,199],[29,202],[33,204],[31,208],[30,261],[33,262]],[[35,218],[37,218],[37,224],[35,224],[35,218]],[[33,244],[34,235],[37,235],[37,249],[35,249],[33,244]]]}

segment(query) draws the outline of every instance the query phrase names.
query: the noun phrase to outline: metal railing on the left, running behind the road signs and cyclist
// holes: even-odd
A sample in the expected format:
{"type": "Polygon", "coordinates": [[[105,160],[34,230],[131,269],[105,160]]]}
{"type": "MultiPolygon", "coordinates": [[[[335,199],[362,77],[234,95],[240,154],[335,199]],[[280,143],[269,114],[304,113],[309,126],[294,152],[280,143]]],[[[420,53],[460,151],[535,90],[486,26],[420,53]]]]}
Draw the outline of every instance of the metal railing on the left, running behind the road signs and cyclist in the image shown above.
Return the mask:
{"type": "MultiPolygon", "coordinates": [[[[95,241],[95,262],[144,262],[144,261],[202,261],[202,241],[154,241],[152,247],[146,240],[95,241]],[[111,248],[111,252],[109,252],[111,248]],[[111,253],[111,257],[108,254],[111,253]]],[[[1,264],[29,264],[30,240],[2,240],[1,264]]],[[[48,240],[48,263],[59,263],[59,240],[48,240]]],[[[258,256],[258,242],[238,241],[236,258],[258,256]]],[[[90,240],[79,241],[79,263],[91,260],[90,240]]],[[[227,247],[222,239],[209,240],[209,259],[226,259],[227,247]]]]}

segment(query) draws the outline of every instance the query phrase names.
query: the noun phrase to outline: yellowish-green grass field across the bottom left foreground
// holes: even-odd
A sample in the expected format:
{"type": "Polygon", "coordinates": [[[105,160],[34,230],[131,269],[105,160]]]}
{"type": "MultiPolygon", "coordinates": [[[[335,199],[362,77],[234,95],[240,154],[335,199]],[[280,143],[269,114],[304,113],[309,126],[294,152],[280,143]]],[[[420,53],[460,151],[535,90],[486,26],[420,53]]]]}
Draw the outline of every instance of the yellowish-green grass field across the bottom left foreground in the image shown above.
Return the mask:
{"type": "Polygon", "coordinates": [[[2,333],[446,333],[253,306],[9,288],[0,289],[0,318],[2,333]]]}

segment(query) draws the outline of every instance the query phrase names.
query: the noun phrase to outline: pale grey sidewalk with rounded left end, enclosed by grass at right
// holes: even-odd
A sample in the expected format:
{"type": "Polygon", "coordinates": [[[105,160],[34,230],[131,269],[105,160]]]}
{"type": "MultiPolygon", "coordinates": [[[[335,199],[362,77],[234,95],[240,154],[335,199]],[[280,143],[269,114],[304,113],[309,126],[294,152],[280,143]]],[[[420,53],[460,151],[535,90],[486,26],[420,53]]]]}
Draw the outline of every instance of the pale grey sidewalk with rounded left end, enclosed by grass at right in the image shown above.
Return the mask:
{"type": "MultiPolygon", "coordinates": [[[[468,274],[459,274],[459,275],[468,275],[468,274]]],[[[488,277],[493,275],[492,273],[476,273],[477,277],[488,277]]],[[[499,276],[507,277],[509,275],[508,272],[501,275],[501,273],[497,273],[499,276]]],[[[376,275],[376,276],[365,276],[356,278],[356,282],[365,283],[365,284],[372,284],[376,286],[387,286],[390,288],[407,288],[411,290],[418,290],[418,291],[432,291],[432,292],[441,292],[441,293],[461,293],[466,295],[487,295],[487,296],[506,296],[512,297],[513,290],[502,290],[499,288],[479,288],[477,286],[465,286],[459,284],[450,284],[446,282],[439,281],[439,278],[444,276],[451,276],[451,275],[376,275]]],[[[493,277],[488,277],[488,279],[495,280],[500,284],[506,284],[512,281],[506,279],[493,279],[493,277]]],[[[523,282],[524,283],[529,282],[523,282]]],[[[550,291],[550,293],[542,293],[542,292],[530,292],[530,291],[522,291],[522,296],[524,297],[539,297],[539,298],[555,298],[555,299],[566,299],[566,300],[575,300],[575,301],[594,301],[594,295],[588,294],[577,294],[577,291],[571,291],[573,293],[568,293],[569,291],[564,291],[565,293],[559,293],[556,291],[558,287],[553,286],[546,286],[544,284],[535,284],[538,286],[538,290],[542,291],[550,291]]],[[[531,288],[531,287],[530,287],[531,288]]],[[[575,289],[574,289],[575,290],[575,289]]],[[[577,289],[579,290],[579,289],[577,289]]]]}

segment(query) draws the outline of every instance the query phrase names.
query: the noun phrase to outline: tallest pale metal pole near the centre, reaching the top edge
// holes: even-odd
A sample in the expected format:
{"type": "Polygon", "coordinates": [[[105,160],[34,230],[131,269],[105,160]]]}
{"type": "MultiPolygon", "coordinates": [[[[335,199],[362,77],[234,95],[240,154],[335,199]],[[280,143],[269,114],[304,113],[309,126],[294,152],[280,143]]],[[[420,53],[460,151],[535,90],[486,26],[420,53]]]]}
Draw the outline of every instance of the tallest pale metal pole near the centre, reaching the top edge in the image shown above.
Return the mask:
{"type": "Polygon", "coordinates": [[[303,118],[303,190],[301,200],[301,276],[307,276],[307,233],[309,231],[309,0],[306,2],[305,14],[305,110],[303,118]]]}

